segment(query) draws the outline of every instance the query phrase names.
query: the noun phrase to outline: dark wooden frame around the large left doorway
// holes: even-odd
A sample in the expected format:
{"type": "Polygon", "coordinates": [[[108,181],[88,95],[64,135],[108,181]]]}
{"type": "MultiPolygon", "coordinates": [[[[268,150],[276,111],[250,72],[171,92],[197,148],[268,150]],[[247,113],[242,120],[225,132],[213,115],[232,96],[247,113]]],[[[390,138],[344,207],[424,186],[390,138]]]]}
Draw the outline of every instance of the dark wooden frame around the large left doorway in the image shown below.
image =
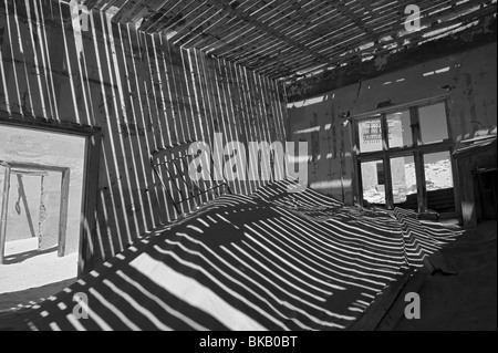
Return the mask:
{"type": "Polygon", "coordinates": [[[19,114],[12,113],[9,115],[0,112],[0,126],[1,125],[76,135],[86,138],[77,277],[81,278],[84,274],[90,273],[94,269],[96,261],[98,261],[95,243],[97,243],[96,211],[102,153],[101,127],[85,126],[68,122],[27,120],[19,114]]]}

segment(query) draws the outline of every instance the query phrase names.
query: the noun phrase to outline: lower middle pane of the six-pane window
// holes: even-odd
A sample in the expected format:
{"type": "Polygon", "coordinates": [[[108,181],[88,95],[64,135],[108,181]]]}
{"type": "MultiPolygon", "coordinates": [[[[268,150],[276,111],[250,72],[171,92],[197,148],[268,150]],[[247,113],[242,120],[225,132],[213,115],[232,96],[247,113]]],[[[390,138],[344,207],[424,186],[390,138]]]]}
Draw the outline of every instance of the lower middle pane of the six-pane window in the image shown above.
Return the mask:
{"type": "Polygon", "coordinates": [[[391,159],[393,197],[397,207],[417,209],[417,179],[414,157],[391,159]]]}

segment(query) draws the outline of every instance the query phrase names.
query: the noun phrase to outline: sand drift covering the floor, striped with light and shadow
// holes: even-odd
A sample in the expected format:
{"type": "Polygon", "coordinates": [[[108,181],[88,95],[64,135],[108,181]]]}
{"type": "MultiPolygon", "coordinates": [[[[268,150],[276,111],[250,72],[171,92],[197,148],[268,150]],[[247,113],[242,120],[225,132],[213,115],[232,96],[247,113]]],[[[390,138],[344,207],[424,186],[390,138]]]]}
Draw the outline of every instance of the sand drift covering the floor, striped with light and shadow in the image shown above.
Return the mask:
{"type": "Polygon", "coordinates": [[[287,185],[224,196],[70,288],[0,315],[7,330],[344,330],[458,232],[287,185]],[[72,315],[89,297],[87,320],[72,315]]]}

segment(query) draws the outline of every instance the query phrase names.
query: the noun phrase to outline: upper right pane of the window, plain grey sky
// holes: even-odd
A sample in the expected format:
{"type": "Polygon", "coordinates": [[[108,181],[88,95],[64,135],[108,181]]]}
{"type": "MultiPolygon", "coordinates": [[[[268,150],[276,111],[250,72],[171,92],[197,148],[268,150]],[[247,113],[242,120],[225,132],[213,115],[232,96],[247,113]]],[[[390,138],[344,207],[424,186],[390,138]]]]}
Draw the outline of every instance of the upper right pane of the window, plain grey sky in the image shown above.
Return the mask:
{"type": "Polygon", "coordinates": [[[424,144],[442,142],[448,138],[446,106],[444,103],[424,106],[418,110],[422,142],[424,144]]]}

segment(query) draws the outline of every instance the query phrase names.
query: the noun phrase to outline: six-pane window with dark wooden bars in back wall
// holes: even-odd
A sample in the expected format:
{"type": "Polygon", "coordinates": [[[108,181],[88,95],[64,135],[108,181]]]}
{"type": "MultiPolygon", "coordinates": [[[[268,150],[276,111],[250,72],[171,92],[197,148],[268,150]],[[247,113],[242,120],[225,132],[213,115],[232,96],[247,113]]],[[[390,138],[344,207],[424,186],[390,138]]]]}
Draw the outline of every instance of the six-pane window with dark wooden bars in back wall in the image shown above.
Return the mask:
{"type": "Polygon", "coordinates": [[[380,112],[354,126],[361,199],[388,209],[455,211],[445,101],[380,112]]]}

